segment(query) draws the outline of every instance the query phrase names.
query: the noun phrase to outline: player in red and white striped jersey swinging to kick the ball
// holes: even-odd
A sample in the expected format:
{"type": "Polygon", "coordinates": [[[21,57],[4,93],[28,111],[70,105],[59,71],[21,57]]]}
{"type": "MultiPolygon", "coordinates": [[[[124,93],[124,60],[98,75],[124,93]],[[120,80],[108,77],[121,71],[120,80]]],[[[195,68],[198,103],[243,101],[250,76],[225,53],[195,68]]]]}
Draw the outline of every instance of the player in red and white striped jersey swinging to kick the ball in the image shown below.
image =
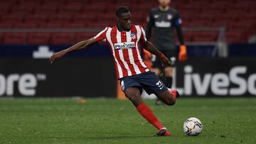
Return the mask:
{"type": "Polygon", "coordinates": [[[149,123],[158,129],[156,135],[169,136],[171,133],[154,116],[154,113],[142,101],[142,89],[149,94],[154,93],[167,105],[173,105],[176,97],[179,96],[175,89],[167,89],[161,80],[154,73],[149,71],[141,57],[139,44],[146,50],[160,57],[163,65],[171,64],[159,50],[146,40],[142,26],[132,25],[131,13],[127,7],[121,6],[116,11],[117,26],[107,27],[94,38],[90,38],[77,43],[70,48],[54,53],[50,57],[50,63],[60,59],[68,52],[81,50],[87,46],[106,40],[114,57],[117,79],[121,82],[122,91],[125,96],[136,106],[137,111],[146,118],[149,123]]]}

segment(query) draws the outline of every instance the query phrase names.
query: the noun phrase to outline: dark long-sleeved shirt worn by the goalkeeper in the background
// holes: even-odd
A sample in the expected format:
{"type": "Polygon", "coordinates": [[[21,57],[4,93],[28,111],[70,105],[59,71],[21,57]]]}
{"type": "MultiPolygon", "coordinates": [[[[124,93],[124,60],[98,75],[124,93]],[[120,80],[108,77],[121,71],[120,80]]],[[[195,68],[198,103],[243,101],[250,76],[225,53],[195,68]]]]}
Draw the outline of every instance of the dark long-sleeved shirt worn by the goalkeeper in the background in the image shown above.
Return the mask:
{"type": "Polygon", "coordinates": [[[147,18],[146,38],[151,37],[154,28],[153,43],[160,50],[175,48],[174,29],[176,28],[181,45],[184,44],[181,31],[181,18],[175,9],[161,11],[159,7],[151,9],[147,18]]]}

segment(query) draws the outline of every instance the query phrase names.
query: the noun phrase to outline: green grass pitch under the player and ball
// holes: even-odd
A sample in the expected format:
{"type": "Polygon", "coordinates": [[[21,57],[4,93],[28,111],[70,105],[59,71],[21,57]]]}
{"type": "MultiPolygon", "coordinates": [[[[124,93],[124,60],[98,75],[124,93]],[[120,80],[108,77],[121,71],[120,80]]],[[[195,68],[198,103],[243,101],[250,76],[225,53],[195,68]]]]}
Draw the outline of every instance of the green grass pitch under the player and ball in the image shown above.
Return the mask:
{"type": "Polygon", "coordinates": [[[0,143],[256,143],[256,99],[178,99],[174,106],[146,100],[170,137],[130,101],[117,99],[0,99],[0,143]],[[183,121],[195,116],[203,133],[187,136],[183,121]]]}

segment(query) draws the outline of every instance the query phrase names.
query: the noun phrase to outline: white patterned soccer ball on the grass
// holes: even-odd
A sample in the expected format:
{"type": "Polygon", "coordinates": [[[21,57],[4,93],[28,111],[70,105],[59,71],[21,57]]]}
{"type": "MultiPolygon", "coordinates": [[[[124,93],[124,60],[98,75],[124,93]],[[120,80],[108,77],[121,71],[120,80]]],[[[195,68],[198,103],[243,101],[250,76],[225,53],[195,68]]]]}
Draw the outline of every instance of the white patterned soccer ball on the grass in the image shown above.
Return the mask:
{"type": "Polygon", "coordinates": [[[203,125],[198,118],[188,118],[183,124],[183,131],[186,135],[199,135],[202,133],[203,125]]]}

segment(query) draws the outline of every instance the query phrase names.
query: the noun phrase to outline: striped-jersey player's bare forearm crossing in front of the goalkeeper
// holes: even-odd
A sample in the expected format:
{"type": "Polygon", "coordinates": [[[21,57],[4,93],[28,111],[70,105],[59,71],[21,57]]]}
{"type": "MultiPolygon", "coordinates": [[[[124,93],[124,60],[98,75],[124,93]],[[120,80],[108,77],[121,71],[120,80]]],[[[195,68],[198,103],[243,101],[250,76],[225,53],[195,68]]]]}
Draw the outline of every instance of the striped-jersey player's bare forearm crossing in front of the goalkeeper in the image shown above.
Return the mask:
{"type": "Polygon", "coordinates": [[[160,57],[160,60],[163,66],[171,65],[171,61],[167,57],[165,57],[164,54],[162,54],[152,43],[150,43],[149,41],[146,41],[145,43],[141,43],[141,45],[145,50],[160,57]]]}

